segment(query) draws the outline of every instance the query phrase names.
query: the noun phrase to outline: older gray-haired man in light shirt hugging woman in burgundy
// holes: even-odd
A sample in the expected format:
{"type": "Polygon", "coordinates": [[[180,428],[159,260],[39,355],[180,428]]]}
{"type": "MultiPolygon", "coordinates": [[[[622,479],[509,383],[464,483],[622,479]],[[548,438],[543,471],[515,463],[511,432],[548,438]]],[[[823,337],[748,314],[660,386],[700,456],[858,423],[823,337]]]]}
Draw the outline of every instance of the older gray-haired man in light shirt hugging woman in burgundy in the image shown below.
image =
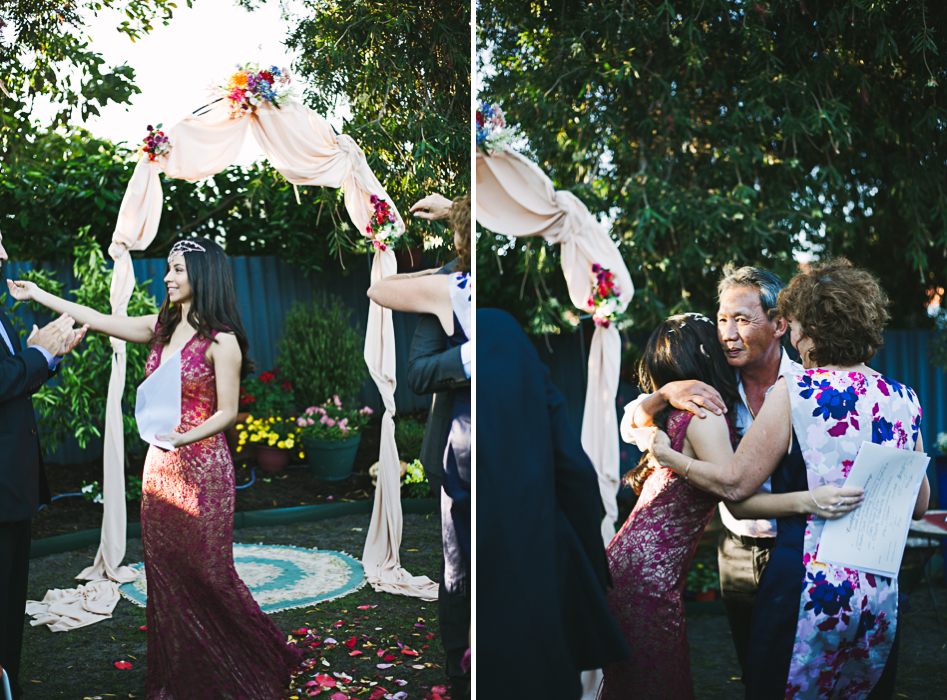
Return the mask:
{"type": "MultiPolygon", "coordinates": [[[[741,435],[753,423],[766,394],[794,364],[782,347],[788,322],[776,315],[776,300],[784,286],[771,272],[758,267],[737,269],[733,263],[724,267],[717,285],[717,334],[737,374],[741,402],[736,408],[736,427],[741,435]]],[[[622,437],[633,442],[629,429],[651,425],[652,417],[668,405],[700,418],[705,410],[718,415],[726,411],[713,387],[699,381],[671,382],[625,407],[622,437]]],[[[769,479],[760,491],[770,491],[769,479]]],[[[775,543],[776,521],[738,520],[723,503],[720,516],[724,524],[718,542],[720,590],[740,669],[745,672],[750,618],[775,543]]]]}

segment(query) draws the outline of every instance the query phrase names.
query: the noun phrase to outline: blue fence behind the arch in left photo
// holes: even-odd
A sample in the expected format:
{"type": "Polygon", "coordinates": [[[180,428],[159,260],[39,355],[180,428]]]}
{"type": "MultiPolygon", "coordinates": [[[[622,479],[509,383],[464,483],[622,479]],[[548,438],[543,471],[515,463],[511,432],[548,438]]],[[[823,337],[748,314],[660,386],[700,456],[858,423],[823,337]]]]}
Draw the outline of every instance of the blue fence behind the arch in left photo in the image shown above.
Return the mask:
{"type": "MultiPolygon", "coordinates": [[[[231,258],[230,264],[234,272],[240,314],[249,336],[250,357],[256,362],[258,370],[269,369],[276,363],[276,343],[282,337],[286,313],[294,301],[308,303],[313,299],[321,299],[324,294],[338,296],[347,307],[352,309],[353,325],[364,334],[369,305],[366,296],[370,279],[367,258],[350,265],[346,270],[327,269],[323,273],[310,273],[308,276],[275,257],[231,258]]],[[[33,269],[34,265],[11,262],[4,267],[6,277],[15,280],[24,271],[33,269]]],[[[57,279],[66,283],[67,289],[78,286],[70,265],[42,263],[35,267],[55,272],[57,279]]],[[[160,304],[165,297],[163,279],[166,261],[139,259],[134,261],[134,267],[135,278],[139,283],[149,283],[148,291],[160,304]]],[[[10,306],[12,306],[12,300],[7,299],[6,311],[8,313],[10,306]]],[[[108,312],[108,309],[99,310],[108,312]]],[[[34,321],[42,324],[48,320],[48,317],[34,319],[33,314],[26,307],[21,307],[19,315],[27,328],[30,328],[34,321]]],[[[393,321],[397,357],[395,405],[399,412],[428,408],[431,403],[430,396],[417,396],[407,386],[408,350],[417,327],[418,315],[396,311],[393,314],[393,321]]],[[[370,378],[367,378],[362,386],[358,400],[371,406],[376,412],[382,409],[381,396],[370,378]]],[[[77,444],[69,443],[61,446],[47,459],[51,462],[69,464],[93,459],[98,454],[101,454],[100,443],[93,444],[86,450],[80,450],[77,444]]]]}

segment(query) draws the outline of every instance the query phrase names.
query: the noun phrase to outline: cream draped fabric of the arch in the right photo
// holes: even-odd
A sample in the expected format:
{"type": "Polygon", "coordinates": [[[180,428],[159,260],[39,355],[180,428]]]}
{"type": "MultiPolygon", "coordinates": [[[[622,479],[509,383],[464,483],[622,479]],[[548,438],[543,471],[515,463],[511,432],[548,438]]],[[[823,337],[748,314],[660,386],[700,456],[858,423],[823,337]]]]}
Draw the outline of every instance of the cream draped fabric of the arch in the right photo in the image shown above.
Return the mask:
{"type": "MultiPolygon", "coordinates": [[[[562,272],[572,303],[585,311],[592,292],[592,265],[611,270],[624,311],[634,295],[628,268],[608,232],[571,192],[557,191],[539,167],[508,149],[477,153],[477,221],[505,236],[542,236],[560,246],[562,272]]],[[[589,381],[582,416],[582,447],[595,465],[605,505],[602,538],[615,536],[618,518],[619,445],[615,395],[621,339],[614,324],[598,326],[589,352],[589,381]]]]}

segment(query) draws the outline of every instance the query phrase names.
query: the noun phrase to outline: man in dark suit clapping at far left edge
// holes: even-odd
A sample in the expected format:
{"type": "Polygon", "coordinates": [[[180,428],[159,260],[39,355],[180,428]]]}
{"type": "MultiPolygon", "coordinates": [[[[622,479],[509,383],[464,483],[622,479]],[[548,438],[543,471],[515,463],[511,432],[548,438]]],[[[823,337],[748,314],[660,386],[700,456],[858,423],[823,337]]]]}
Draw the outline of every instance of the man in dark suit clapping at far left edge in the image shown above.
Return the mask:
{"type": "MultiPolygon", "coordinates": [[[[7,260],[0,236],[0,265],[7,260]]],[[[63,314],[33,332],[23,348],[10,319],[0,308],[0,666],[6,669],[14,697],[19,685],[23,615],[30,563],[30,518],[49,503],[36,416],[31,396],[55,374],[59,360],[72,350],[85,329],[74,331],[63,314]]]]}

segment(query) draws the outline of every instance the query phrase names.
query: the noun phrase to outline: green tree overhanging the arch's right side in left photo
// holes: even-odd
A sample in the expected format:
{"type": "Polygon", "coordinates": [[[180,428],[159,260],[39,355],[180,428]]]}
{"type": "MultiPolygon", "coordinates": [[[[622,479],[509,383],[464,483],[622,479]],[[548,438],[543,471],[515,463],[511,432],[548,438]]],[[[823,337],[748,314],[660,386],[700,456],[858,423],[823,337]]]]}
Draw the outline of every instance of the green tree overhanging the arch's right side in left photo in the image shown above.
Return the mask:
{"type": "Polygon", "coordinates": [[[419,244],[424,230],[449,245],[446,227],[422,225],[407,209],[430,192],[470,190],[470,4],[304,0],[303,7],[287,45],[302,53],[294,69],[310,86],[306,104],[323,114],[350,107],[344,131],[405,217],[398,245],[419,244]]]}

